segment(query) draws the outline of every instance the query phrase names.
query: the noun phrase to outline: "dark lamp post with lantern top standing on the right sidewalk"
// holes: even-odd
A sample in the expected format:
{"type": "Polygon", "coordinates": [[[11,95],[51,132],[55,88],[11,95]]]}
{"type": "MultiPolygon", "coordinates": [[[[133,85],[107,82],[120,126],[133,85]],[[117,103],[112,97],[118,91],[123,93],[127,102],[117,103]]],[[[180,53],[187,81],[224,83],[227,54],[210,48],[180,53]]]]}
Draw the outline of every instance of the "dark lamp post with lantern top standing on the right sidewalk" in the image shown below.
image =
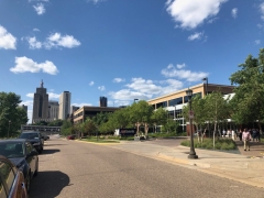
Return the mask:
{"type": "Polygon", "coordinates": [[[191,97],[193,97],[193,90],[188,88],[186,90],[186,95],[188,96],[188,103],[189,103],[189,127],[190,127],[190,152],[188,155],[188,158],[198,158],[198,155],[196,155],[195,146],[194,146],[194,134],[193,134],[193,111],[191,111],[191,97]]]}

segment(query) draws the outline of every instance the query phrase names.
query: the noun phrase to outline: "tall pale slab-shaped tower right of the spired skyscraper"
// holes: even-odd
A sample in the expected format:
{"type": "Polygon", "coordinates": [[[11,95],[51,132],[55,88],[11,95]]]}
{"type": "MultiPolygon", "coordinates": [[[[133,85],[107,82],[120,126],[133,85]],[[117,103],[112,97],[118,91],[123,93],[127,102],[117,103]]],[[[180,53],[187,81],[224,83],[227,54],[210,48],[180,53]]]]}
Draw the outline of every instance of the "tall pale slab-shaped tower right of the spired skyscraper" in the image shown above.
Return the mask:
{"type": "Polygon", "coordinates": [[[65,120],[69,117],[69,113],[70,113],[70,92],[64,91],[59,96],[58,119],[65,120]]]}

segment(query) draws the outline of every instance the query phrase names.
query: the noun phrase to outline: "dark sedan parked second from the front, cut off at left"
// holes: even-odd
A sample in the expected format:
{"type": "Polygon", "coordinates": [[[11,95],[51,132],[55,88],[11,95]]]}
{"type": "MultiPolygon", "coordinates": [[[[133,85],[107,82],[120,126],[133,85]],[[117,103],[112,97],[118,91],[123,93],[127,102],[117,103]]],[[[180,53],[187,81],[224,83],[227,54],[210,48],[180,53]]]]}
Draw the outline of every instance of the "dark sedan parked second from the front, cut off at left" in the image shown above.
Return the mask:
{"type": "Polygon", "coordinates": [[[31,179],[38,172],[38,153],[25,139],[1,140],[0,155],[9,158],[22,173],[30,191],[31,179]]]}

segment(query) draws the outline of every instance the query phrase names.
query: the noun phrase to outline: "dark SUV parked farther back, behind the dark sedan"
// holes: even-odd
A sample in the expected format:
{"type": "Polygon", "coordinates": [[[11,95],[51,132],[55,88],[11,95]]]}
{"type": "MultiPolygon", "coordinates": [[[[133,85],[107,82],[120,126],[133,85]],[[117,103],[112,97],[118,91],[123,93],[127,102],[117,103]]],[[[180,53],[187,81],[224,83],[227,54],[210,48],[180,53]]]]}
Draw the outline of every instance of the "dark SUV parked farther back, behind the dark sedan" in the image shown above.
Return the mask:
{"type": "Polygon", "coordinates": [[[26,139],[29,142],[32,143],[32,145],[38,153],[42,153],[44,147],[44,138],[38,131],[22,132],[19,139],[26,139]]]}

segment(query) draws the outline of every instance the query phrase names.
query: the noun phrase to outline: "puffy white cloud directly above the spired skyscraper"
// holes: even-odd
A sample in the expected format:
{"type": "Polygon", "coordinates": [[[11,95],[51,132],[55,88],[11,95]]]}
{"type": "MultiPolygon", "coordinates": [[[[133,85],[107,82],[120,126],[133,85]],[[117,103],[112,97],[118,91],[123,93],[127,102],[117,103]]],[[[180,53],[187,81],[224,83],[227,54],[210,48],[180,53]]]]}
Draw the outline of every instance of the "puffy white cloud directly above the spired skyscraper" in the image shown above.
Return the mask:
{"type": "Polygon", "coordinates": [[[23,57],[15,57],[15,66],[10,68],[10,72],[18,74],[18,73],[47,73],[51,75],[56,75],[58,73],[57,67],[52,63],[46,61],[45,63],[37,64],[31,58],[25,56],[23,57]]]}

